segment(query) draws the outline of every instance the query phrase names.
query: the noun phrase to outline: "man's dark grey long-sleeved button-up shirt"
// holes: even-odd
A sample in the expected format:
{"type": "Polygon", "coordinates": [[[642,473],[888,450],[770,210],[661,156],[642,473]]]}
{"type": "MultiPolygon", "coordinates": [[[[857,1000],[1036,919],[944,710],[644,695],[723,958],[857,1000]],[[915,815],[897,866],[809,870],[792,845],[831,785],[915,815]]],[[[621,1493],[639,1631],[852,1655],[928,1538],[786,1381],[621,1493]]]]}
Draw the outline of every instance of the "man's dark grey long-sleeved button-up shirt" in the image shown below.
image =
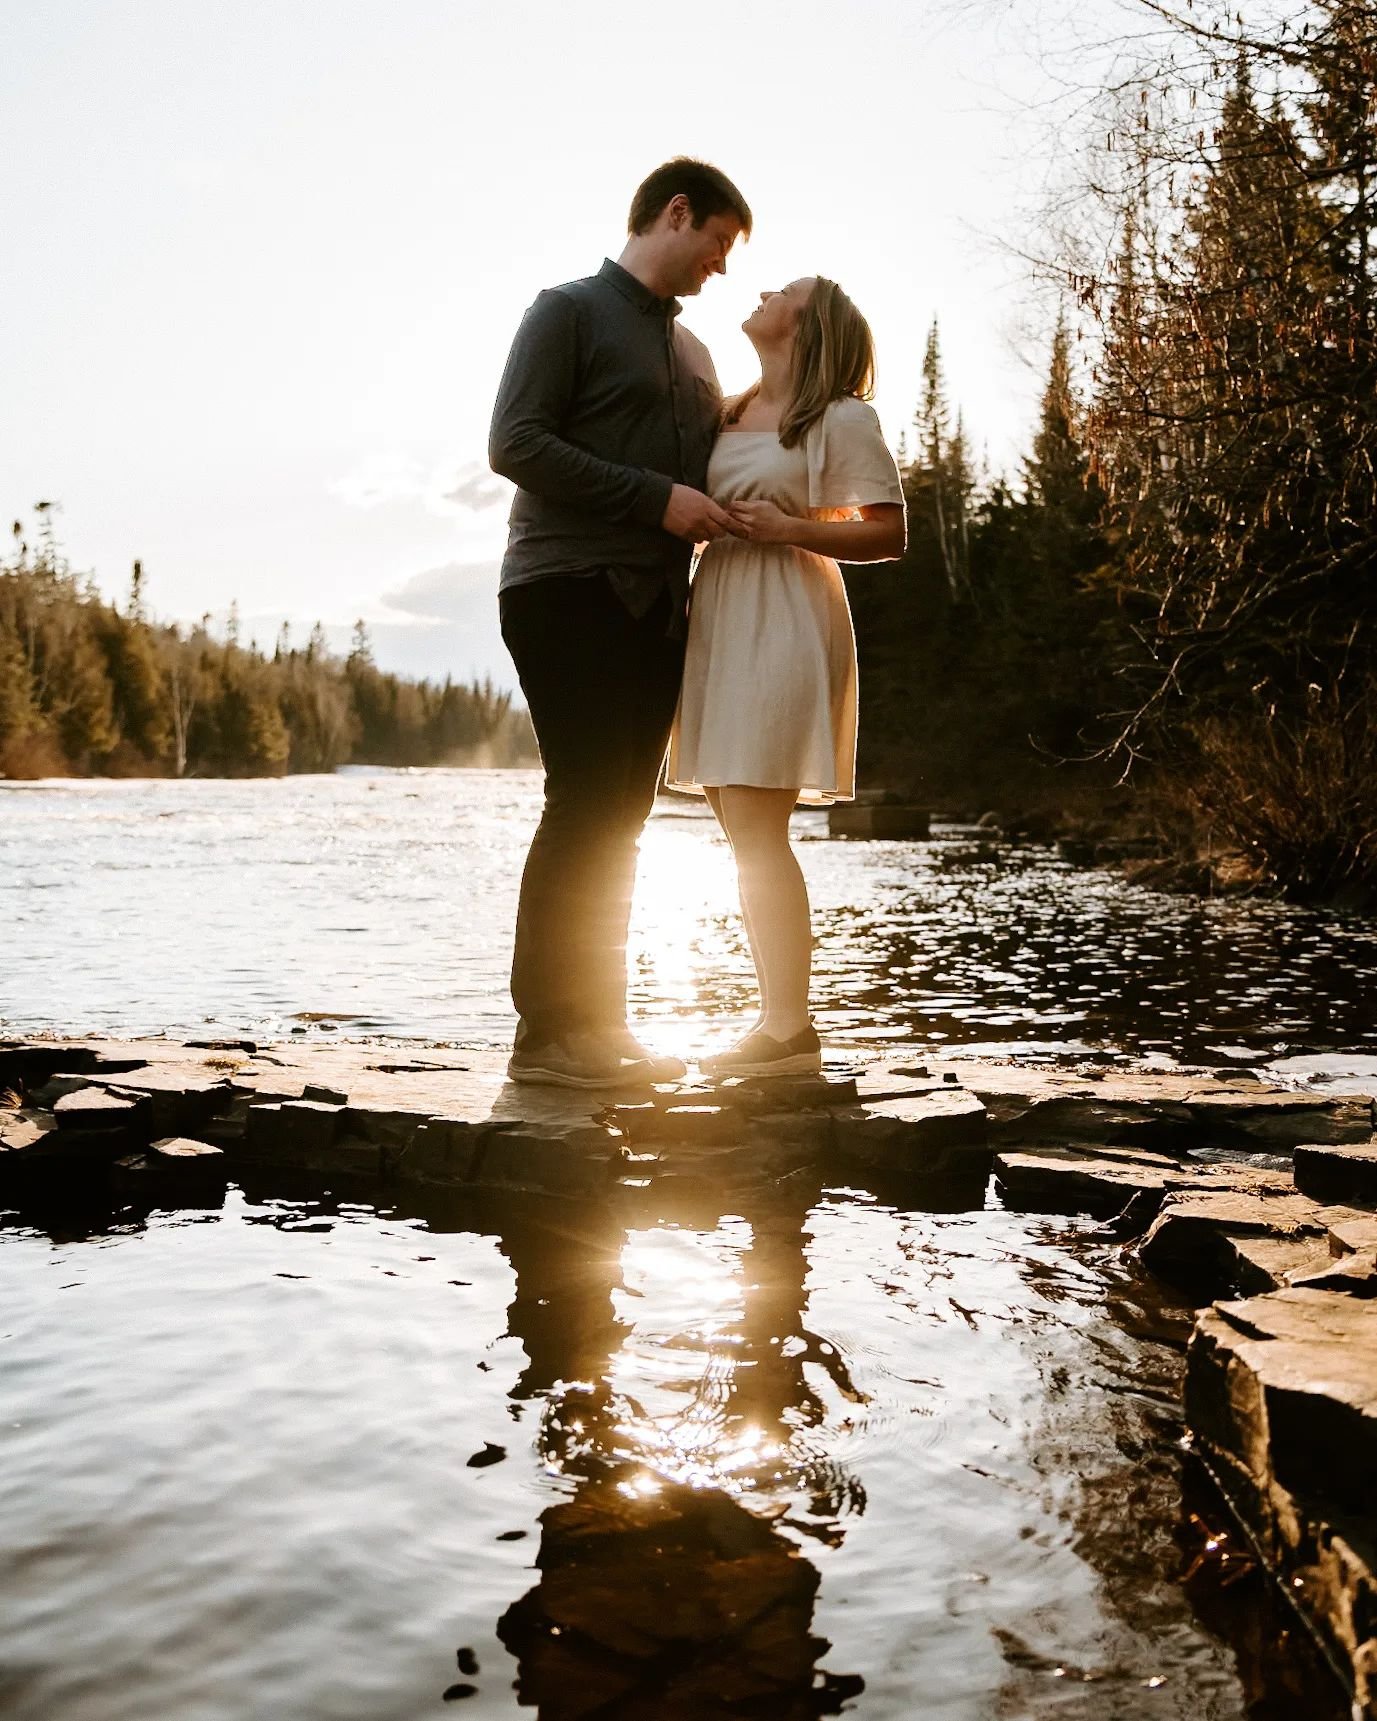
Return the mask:
{"type": "Polygon", "coordinates": [[[673,484],[707,484],[721,389],[678,312],[608,260],[523,317],[489,439],[516,485],[503,590],[608,571],[639,614],[666,582],[687,590],[692,544],[659,521],[673,484]]]}

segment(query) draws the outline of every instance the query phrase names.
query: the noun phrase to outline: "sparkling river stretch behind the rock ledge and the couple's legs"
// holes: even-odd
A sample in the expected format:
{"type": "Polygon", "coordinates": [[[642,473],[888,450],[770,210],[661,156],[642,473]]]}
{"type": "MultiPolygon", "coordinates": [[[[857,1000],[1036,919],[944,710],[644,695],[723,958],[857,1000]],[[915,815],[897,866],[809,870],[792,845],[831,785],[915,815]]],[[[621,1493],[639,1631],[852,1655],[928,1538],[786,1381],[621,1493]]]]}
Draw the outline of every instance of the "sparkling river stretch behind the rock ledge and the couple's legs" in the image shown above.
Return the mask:
{"type": "MultiPolygon", "coordinates": [[[[527,771],[0,785],[0,1029],[509,1038],[527,771]],[[312,1033],[318,1031],[312,1026],[312,1033]]],[[[1201,902],[938,830],[830,842],[795,817],[833,1043],[1244,1062],[1377,1053],[1377,922],[1201,902]]],[[[661,805],[635,1009],[692,1050],[752,1007],[726,847],[661,805]]]]}

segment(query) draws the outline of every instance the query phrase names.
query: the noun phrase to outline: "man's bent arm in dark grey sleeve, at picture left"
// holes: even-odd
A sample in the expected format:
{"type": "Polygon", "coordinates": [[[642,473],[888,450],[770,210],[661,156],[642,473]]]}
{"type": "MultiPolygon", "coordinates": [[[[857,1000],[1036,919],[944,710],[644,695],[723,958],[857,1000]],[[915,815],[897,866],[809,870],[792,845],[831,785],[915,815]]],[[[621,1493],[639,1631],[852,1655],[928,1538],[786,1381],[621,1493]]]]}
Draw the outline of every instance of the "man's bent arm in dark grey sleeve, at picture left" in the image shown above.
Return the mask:
{"type": "Polygon", "coordinates": [[[547,287],[522,318],[492,408],[487,458],[494,472],[532,496],[584,508],[608,520],[658,527],[673,478],[621,466],[563,437],[578,363],[578,308],[547,287]]]}

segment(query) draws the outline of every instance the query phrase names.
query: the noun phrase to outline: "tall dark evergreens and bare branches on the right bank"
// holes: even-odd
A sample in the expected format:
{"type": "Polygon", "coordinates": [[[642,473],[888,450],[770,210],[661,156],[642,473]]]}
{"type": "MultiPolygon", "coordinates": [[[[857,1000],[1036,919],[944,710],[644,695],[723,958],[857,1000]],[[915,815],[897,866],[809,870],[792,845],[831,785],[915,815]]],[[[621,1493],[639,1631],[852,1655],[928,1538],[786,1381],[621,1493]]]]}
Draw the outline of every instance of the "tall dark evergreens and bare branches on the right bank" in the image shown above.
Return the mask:
{"type": "Polygon", "coordinates": [[[1164,879],[1370,904],[1377,5],[1267,36],[1148,10],[1160,64],[1079,162],[1090,239],[1043,263],[1064,310],[1019,484],[973,472],[929,334],[907,554],[847,570],[862,780],[1136,830],[1164,879]]]}

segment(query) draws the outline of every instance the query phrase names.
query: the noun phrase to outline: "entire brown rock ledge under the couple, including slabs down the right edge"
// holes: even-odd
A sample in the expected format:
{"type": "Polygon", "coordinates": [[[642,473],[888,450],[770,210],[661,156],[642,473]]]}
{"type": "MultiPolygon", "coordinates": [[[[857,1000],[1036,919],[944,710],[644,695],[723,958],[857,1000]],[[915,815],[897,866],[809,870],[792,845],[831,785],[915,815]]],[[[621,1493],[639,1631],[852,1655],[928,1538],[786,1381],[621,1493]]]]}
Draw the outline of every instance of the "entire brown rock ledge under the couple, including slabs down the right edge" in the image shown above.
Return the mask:
{"type": "Polygon", "coordinates": [[[1377,1721],[1377,1136],[1370,1096],[1236,1072],[890,1048],[816,1081],[568,1093],[504,1055],[246,1039],[0,1041],[7,1187],[196,1205],[238,1165],[590,1196],[661,1179],[942,1181],[1081,1213],[1200,1308],[1186,1418],[1258,1558],[1377,1721]]]}

